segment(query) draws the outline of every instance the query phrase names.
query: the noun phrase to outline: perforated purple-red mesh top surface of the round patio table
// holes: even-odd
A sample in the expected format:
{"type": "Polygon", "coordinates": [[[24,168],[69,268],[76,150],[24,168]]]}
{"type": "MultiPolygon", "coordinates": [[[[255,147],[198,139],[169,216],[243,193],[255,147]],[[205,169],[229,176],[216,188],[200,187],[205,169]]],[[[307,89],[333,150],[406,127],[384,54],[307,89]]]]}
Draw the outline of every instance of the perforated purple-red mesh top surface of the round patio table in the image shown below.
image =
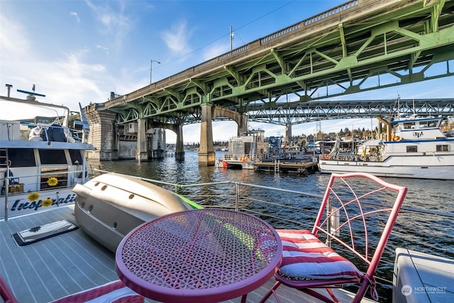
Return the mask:
{"type": "Polygon", "coordinates": [[[222,287],[247,280],[272,262],[278,242],[271,229],[238,211],[183,211],[136,229],[123,244],[121,262],[157,286],[222,287]]]}

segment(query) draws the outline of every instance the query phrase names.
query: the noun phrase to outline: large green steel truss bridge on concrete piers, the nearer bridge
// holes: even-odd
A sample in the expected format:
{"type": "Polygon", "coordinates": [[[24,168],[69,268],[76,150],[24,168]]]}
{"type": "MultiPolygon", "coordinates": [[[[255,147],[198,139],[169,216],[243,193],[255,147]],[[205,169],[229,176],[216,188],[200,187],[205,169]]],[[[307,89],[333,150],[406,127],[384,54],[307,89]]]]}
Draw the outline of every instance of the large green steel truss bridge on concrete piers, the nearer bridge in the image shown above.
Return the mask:
{"type": "MultiPolygon", "coordinates": [[[[265,117],[267,110],[288,125],[292,121],[282,109],[288,106],[289,94],[298,99],[290,106],[294,112],[304,115],[300,109],[307,106],[320,109],[319,116],[326,118],[335,105],[321,99],[453,76],[449,66],[453,46],[453,0],[348,1],[159,82],[89,106],[85,110],[96,137],[92,142],[109,153],[115,150],[112,124],[137,122],[138,160],[147,157],[146,131],[153,127],[175,131],[176,156],[184,158],[182,126],[201,122],[199,164],[214,165],[213,119],[233,119],[240,133],[247,129],[248,119],[265,117]],[[429,74],[439,63],[446,68],[429,74]],[[384,76],[393,80],[380,81],[384,76]],[[378,79],[378,85],[367,85],[370,79],[378,79]],[[110,135],[103,126],[111,129],[110,135]]],[[[346,104],[341,106],[351,116],[364,114],[350,111],[346,104]]],[[[452,101],[448,106],[452,111],[452,101]]],[[[443,108],[431,101],[419,107],[421,112],[443,108]]]]}

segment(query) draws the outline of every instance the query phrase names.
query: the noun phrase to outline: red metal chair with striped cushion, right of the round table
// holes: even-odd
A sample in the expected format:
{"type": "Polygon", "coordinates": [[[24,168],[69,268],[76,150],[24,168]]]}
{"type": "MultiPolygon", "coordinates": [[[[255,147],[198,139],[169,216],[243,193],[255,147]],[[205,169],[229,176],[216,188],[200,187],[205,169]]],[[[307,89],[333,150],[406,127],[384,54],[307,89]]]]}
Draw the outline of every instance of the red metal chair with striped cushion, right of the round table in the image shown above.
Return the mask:
{"type": "Polygon", "coordinates": [[[375,270],[406,191],[366,173],[331,175],[312,230],[277,230],[284,246],[282,265],[261,302],[271,294],[280,302],[275,290],[281,284],[324,302],[338,302],[331,288],[355,283],[359,290],[352,302],[360,302],[368,287],[377,300],[375,270]],[[349,260],[331,247],[344,250],[349,260]],[[329,295],[314,290],[319,287],[329,295]]]}

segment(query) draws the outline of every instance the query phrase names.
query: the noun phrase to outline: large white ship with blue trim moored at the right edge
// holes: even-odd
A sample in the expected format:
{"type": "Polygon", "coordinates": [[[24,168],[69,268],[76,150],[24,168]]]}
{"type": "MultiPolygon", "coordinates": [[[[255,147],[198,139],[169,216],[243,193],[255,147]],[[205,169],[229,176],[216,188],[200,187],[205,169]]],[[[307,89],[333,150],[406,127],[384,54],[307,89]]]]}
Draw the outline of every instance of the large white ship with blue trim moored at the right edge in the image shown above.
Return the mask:
{"type": "Polygon", "coordinates": [[[339,141],[319,158],[321,172],[369,172],[384,177],[454,180],[454,138],[441,131],[443,117],[417,117],[388,122],[381,140],[341,153],[339,141]]]}

